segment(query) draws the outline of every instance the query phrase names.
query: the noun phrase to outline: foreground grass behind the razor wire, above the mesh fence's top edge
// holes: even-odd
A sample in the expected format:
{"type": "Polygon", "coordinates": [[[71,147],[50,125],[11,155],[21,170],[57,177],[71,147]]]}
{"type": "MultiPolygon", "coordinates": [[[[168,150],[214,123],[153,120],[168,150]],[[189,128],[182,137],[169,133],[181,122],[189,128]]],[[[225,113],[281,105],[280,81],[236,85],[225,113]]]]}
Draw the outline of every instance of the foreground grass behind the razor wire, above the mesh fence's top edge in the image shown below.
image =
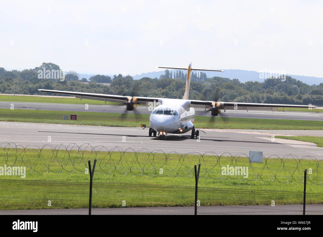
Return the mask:
{"type": "MultiPolygon", "coordinates": [[[[148,183],[194,185],[194,164],[201,163],[199,185],[204,187],[270,189],[300,191],[304,169],[312,168],[307,190],[323,192],[322,161],[267,159],[264,163],[249,163],[248,157],[217,157],[161,153],[123,153],[66,151],[50,149],[4,149],[0,161],[7,166],[26,166],[28,180],[88,181],[85,173],[88,160],[98,160],[94,181],[113,183],[148,183]],[[94,155],[95,154],[95,155],[94,155]],[[38,158],[40,157],[40,158],[38,158]],[[200,158],[200,160],[199,160],[200,158]],[[248,167],[248,177],[225,175],[222,167],[248,167]],[[162,169],[162,172],[160,173],[162,169]]],[[[8,178],[2,176],[1,178],[8,178]]],[[[20,176],[10,178],[21,179],[20,176]]]]}

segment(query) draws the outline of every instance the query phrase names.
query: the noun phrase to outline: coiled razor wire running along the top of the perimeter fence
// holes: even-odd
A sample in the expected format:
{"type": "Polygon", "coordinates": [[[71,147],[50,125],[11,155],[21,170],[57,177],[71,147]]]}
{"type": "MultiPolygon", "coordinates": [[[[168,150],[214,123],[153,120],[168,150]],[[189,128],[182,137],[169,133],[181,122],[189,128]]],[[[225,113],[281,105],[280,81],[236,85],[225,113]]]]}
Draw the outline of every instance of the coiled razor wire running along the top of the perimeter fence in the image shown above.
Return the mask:
{"type": "Polygon", "coordinates": [[[201,163],[200,178],[213,180],[303,183],[305,169],[308,170],[308,182],[322,185],[323,179],[323,160],[294,154],[271,155],[263,157],[262,163],[251,163],[245,153],[164,153],[161,150],[108,148],[88,143],[80,146],[75,143],[67,146],[46,144],[42,147],[1,143],[0,147],[0,166],[24,166],[27,173],[33,174],[84,173],[87,162],[97,159],[96,173],[99,175],[194,177],[194,164],[201,163]],[[226,167],[245,167],[248,174],[224,174],[226,167]]]}

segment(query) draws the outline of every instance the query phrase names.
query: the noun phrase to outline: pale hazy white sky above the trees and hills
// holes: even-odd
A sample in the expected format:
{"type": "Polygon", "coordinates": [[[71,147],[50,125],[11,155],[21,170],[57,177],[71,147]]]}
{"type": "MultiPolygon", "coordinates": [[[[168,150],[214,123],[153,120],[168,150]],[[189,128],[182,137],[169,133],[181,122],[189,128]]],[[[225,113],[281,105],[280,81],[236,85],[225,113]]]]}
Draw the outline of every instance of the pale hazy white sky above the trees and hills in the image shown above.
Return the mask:
{"type": "Polygon", "coordinates": [[[155,67],[323,77],[323,1],[3,1],[0,67],[130,75],[155,67]]]}

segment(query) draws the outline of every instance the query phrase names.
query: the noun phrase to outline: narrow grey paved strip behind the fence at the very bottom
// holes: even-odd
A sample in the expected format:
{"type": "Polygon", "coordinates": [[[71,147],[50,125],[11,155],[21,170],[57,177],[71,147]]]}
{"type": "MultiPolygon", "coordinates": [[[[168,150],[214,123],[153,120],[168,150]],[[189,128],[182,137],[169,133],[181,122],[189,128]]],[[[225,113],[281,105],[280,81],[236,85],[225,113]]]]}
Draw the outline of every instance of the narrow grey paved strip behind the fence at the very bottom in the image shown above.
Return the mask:
{"type": "MultiPolygon", "coordinates": [[[[0,210],[1,215],[88,215],[89,209],[0,210]]],[[[92,208],[92,215],[193,215],[194,207],[92,208]]],[[[303,205],[200,206],[198,215],[302,215],[303,205]]],[[[323,204],[307,204],[307,215],[322,215],[323,204]]]]}

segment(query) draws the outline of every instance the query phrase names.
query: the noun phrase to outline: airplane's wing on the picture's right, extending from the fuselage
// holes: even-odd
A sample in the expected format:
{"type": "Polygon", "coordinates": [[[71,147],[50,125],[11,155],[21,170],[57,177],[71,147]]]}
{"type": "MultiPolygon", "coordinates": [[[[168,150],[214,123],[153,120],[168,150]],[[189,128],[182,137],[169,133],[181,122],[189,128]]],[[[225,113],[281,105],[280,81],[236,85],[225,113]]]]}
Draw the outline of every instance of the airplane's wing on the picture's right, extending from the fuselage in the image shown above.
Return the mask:
{"type": "Polygon", "coordinates": [[[258,103],[240,103],[240,102],[214,102],[214,101],[201,101],[191,100],[191,107],[207,108],[213,105],[224,110],[247,110],[252,109],[272,109],[272,108],[315,108],[315,105],[294,105],[294,104],[258,104],[258,103]]]}

